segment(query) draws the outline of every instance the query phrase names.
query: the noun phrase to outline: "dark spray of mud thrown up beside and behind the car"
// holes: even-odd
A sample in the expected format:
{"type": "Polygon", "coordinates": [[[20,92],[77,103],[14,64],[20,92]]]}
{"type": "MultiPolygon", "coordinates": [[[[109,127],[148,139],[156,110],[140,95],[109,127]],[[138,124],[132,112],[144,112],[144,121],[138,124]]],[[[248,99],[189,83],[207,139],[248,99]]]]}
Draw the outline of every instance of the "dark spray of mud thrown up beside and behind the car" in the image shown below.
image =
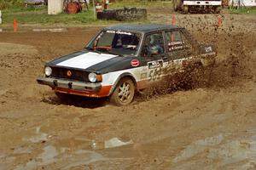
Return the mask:
{"type": "MultiPolygon", "coordinates": [[[[193,25],[189,26],[193,29],[193,25]]],[[[217,48],[217,56],[213,65],[202,67],[193,65],[183,73],[164,77],[160,83],[138,95],[138,100],[151,99],[162,94],[172,94],[176,91],[185,91],[195,88],[229,88],[242,86],[242,82],[253,79],[253,45],[256,41],[247,42],[248,37],[255,35],[246,32],[234,31],[234,26],[228,29],[212,28],[199,29],[195,37],[203,42],[210,43],[217,48]]],[[[196,54],[196,53],[194,53],[196,54]]]]}

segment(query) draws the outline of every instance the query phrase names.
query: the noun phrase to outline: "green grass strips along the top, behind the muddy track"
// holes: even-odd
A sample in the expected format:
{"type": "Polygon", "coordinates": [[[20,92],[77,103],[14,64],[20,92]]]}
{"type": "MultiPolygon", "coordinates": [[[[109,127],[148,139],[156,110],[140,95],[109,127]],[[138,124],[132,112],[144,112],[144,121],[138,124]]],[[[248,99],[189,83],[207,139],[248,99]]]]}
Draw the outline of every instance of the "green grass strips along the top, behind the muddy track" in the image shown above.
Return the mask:
{"type": "MultiPolygon", "coordinates": [[[[0,0],[0,6],[1,6],[0,0]]],[[[12,0],[6,0],[6,2],[11,2],[12,0]]],[[[17,2],[20,0],[17,0],[17,2]]],[[[149,0],[130,0],[117,3],[111,3],[109,8],[123,8],[123,7],[137,7],[137,8],[172,8],[172,1],[149,1],[149,0]]],[[[19,3],[20,4],[20,3],[19,3]]],[[[227,9],[228,10],[228,9],[227,9]]],[[[256,8],[241,8],[241,9],[229,9],[231,14],[256,14],[256,8]],[[249,12],[247,12],[249,11],[249,12]]],[[[3,14],[3,25],[1,27],[11,27],[13,26],[13,20],[18,21],[19,26],[94,26],[94,25],[112,25],[120,24],[123,22],[115,20],[96,20],[93,13],[93,8],[90,10],[83,10],[79,14],[56,14],[48,15],[47,7],[35,7],[29,6],[24,7],[20,5],[14,5],[9,8],[4,8],[2,10],[3,14]]],[[[148,20],[137,20],[129,21],[136,23],[149,22],[148,20]]]]}

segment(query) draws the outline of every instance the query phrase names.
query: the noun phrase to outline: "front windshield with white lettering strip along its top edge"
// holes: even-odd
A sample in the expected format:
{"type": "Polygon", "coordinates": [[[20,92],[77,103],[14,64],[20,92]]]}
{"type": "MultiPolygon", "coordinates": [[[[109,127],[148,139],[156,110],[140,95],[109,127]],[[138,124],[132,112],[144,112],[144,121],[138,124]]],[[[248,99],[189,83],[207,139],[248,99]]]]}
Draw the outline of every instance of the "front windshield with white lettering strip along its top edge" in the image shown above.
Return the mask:
{"type": "Polygon", "coordinates": [[[102,31],[87,48],[102,53],[136,55],[141,37],[128,31],[102,31]]]}

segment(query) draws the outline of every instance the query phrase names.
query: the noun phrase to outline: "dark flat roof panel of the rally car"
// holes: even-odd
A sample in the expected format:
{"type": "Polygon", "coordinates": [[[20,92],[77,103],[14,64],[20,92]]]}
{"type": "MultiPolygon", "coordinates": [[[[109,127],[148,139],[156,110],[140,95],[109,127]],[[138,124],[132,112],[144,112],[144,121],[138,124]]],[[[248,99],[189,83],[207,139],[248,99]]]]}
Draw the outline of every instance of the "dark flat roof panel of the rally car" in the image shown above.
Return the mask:
{"type": "Polygon", "coordinates": [[[162,31],[162,30],[171,30],[179,28],[178,26],[173,25],[164,25],[164,24],[128,24],[128,25],[119,25],[119,26],[108,26],[104,30],[119,30],[119,31],[140,31],[140,32],[151,32],[151,31],[162,31]]]}

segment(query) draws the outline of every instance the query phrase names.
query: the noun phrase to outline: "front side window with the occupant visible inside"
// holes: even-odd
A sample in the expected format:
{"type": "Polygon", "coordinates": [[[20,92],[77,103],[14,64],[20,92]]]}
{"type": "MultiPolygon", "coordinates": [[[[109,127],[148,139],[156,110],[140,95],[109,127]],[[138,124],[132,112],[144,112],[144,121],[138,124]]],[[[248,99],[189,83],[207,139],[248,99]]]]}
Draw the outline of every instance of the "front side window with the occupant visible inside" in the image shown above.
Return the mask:
{"type": "Polygon", "coordinates": [[[147,35],[143,43],[142,55],[152,57],[165,53],[165,45],[162,33],[147,35]]]}

